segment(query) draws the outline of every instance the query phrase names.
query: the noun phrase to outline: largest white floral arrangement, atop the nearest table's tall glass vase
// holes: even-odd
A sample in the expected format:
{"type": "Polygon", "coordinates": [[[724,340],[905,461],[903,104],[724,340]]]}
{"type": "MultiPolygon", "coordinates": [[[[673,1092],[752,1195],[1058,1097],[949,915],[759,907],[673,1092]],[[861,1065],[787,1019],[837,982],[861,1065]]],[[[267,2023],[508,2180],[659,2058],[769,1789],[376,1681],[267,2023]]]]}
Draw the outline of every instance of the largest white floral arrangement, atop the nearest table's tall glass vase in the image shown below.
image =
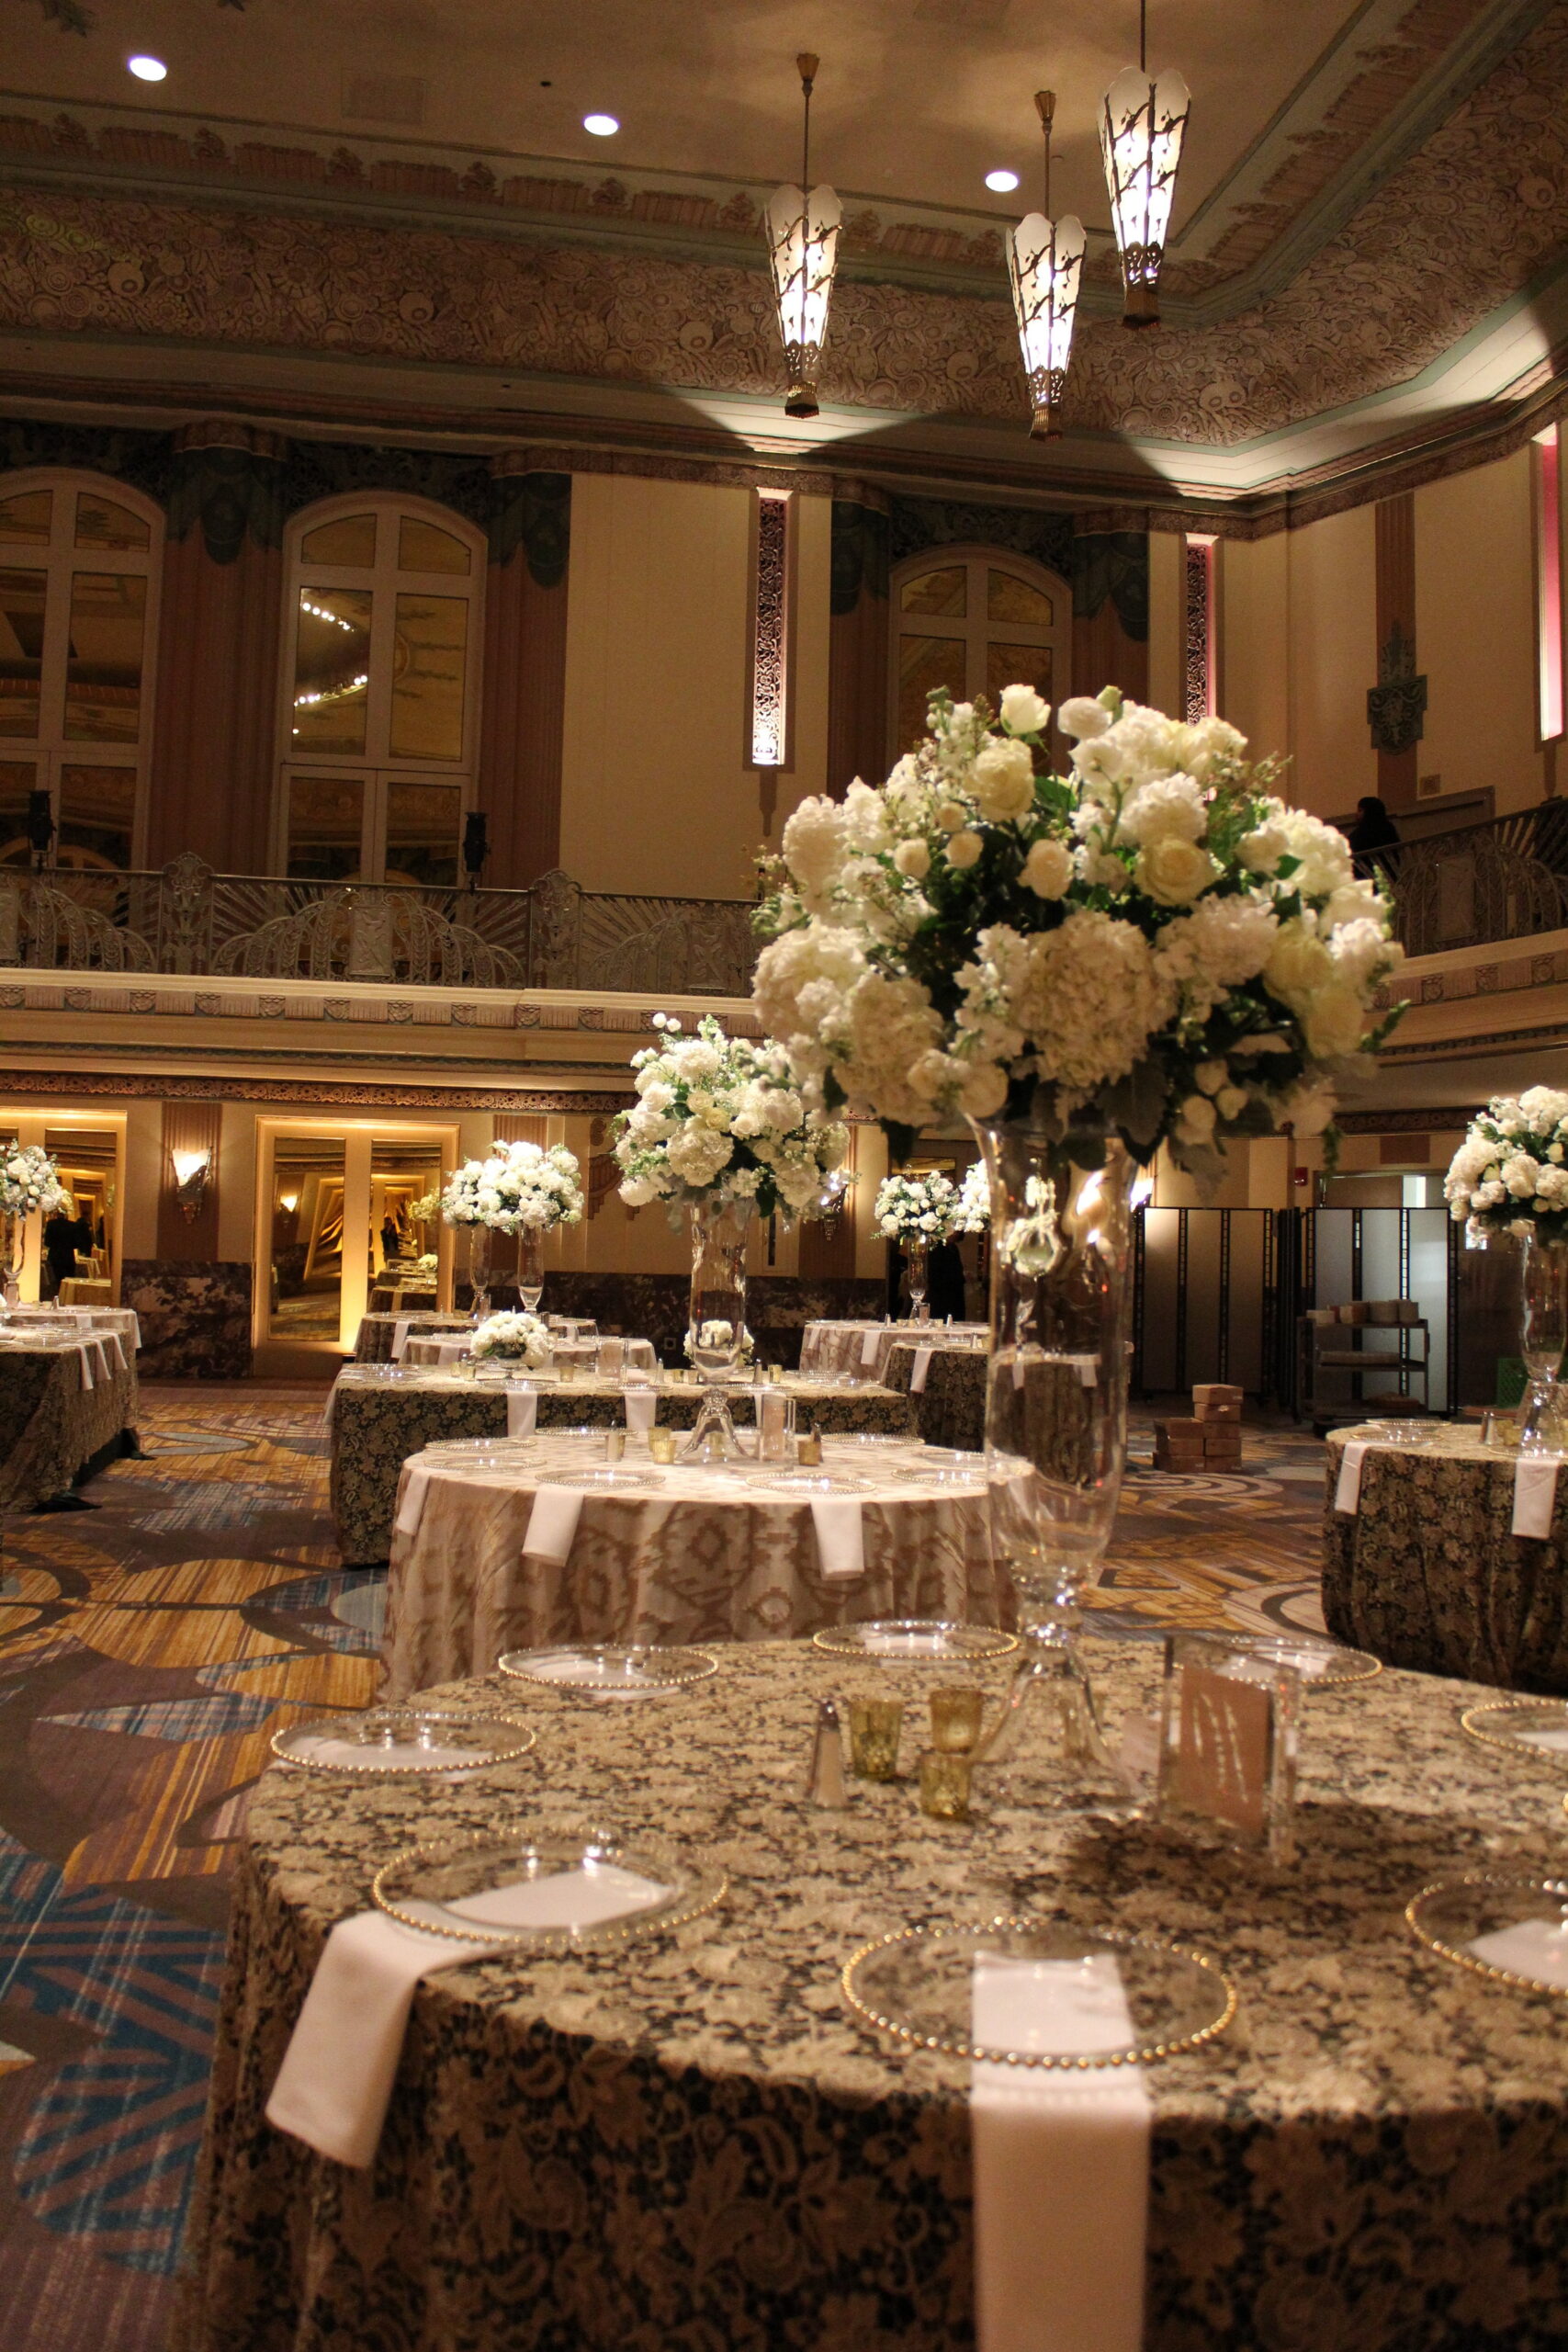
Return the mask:
{"type": "Polygon", "coordinates": [[[1213,1181],[1227,1136],[1333,1120],[1392,1028],[1389,903],[1340,833],[1272,793],[1246,739],[1107,687],[931,699],[879,788],[790,816],[755,1000],[806,1101],[919,1129],[1001,1110],[1161,1143],[1213,1181]]]}

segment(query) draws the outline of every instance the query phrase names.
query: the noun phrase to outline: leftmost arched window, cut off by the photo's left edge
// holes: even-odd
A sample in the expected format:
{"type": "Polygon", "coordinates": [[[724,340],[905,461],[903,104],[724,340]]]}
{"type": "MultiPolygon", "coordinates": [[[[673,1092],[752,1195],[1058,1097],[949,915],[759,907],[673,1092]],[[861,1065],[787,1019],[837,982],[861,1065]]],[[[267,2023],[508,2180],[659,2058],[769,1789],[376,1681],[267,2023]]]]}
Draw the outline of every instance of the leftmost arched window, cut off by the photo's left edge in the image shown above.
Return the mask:
{"type": "Polygon", "coordinates": [[[0,477],[0,866],[49,795],[61,866],[136,863],[162,515],[108,475],[0,477]]]}

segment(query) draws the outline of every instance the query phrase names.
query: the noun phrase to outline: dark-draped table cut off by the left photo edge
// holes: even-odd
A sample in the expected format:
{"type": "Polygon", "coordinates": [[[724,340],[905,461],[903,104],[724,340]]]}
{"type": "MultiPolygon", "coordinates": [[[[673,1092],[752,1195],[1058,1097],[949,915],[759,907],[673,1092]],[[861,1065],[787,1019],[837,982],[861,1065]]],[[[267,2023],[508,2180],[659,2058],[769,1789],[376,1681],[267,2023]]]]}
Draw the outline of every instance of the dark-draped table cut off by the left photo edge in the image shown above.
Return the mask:
{"type": "Polygon", "coordinates": [[[134,1449],[136,1355],[115,1331],[12,1338],[0,1327],[0,1510],[33,1510],[89,1463],[134,1449]]]}

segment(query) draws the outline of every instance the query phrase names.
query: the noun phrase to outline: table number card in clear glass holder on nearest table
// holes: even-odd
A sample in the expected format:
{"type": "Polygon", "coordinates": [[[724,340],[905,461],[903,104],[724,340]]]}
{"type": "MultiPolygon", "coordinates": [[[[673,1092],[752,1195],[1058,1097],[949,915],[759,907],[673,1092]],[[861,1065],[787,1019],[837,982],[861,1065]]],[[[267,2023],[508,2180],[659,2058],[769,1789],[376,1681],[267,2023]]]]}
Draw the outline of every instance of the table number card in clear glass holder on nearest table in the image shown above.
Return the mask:
{"type": "Polygon", "coordinates": [[[1295,1856],[1300,1675],[1201,1635],[1166,1639],[1159,1818],[1295,1856]]]}

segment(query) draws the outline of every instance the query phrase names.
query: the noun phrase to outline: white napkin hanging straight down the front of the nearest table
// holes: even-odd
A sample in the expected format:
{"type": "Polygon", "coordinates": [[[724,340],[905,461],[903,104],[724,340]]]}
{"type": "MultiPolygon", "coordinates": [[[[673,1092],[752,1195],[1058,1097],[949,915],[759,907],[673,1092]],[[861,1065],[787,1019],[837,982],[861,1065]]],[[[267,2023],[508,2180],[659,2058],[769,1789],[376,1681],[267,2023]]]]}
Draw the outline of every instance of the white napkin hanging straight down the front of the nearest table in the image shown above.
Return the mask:
{"type": "MultiPolygon", "coordinates": [[[[973,2037],[1093,2051],[1133,2039],[1117,1962],[976,1959],[973,2037]]],[[[973,2065],[980,2352],[1140,2352],[1152,2103],[1140,2067],[973,2065]]]]}

